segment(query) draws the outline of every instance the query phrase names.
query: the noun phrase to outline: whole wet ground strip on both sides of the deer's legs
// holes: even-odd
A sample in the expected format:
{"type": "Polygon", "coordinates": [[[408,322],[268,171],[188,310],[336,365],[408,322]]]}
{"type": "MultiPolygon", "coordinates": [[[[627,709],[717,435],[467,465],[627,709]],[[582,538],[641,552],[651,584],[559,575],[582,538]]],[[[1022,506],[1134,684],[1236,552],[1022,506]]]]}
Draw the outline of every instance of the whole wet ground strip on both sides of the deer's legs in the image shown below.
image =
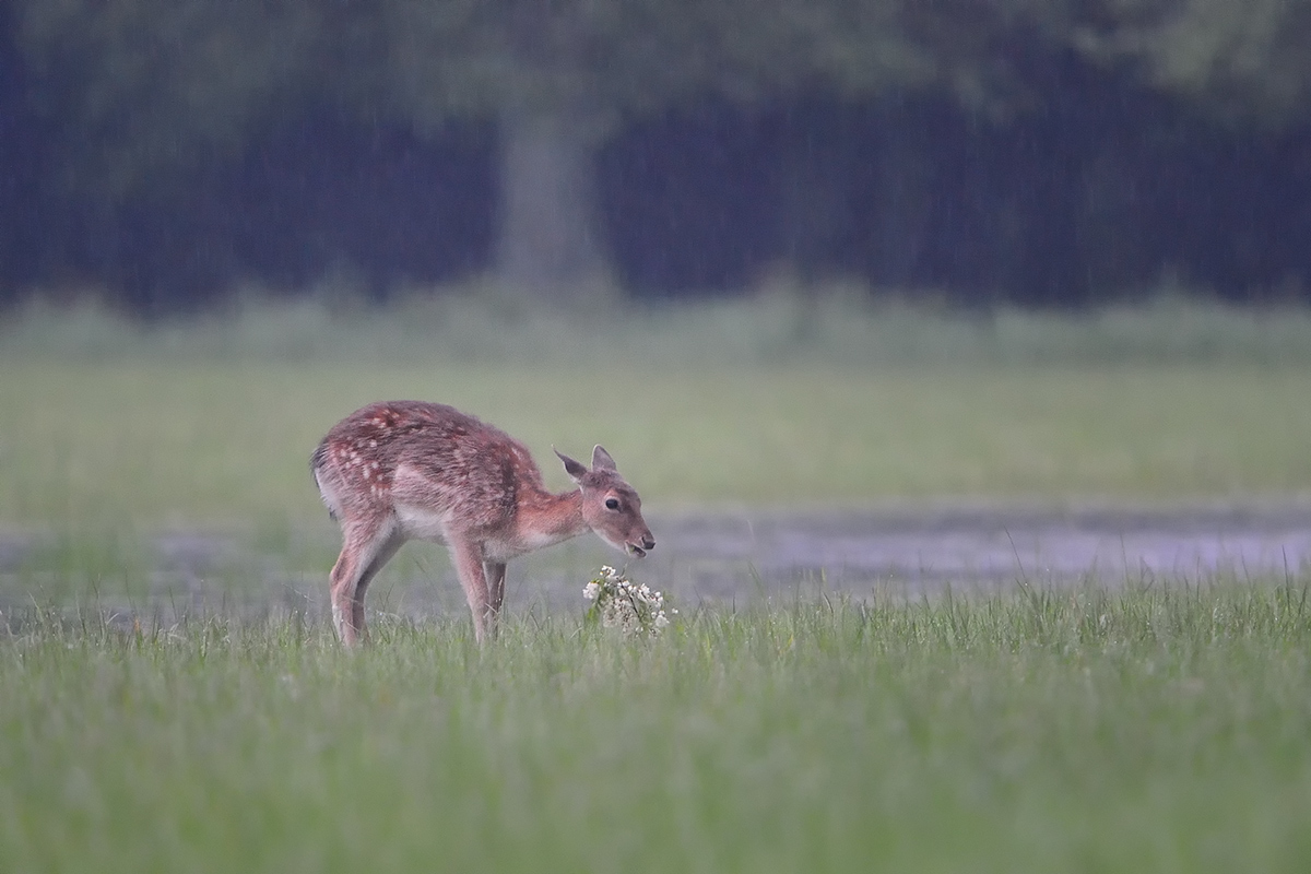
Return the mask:
{"type": "MultiPolygon", "coordinates": [[[[1311,573],[1311,502],[1155,511],[954,506],[714,512],[650,523],[658,546],[646,560],[629,562],[628,571],[682,604],[818,591],[920,598],[948,586],[965,592],[1020,582],[1118,586],[1306,579],[1311,573]]],[[[67,545],[51,539],[0,532],[0,611],[30,603],[33,590],[64,600],[83,599],[89,590],[102,608],[163,618],[202,609],[325,612],[326,571],[337,546],[330,527],[278,548],[248,541],[170,532],[138,549],[87,560],[60,553],[67,545]],[[79,570],[87,561],[90,569],[79,570]],[[68,567],[85,579],[62,579],[68,567]]],[[[510,608],[578,611],[591,571],[621,562],[595,537],[583,537],[511,563],[510,608]]],[[[426,544],[401,550],[375,583],[370,605],[414,616],[464,609],[444,550],[426,544]]]]}

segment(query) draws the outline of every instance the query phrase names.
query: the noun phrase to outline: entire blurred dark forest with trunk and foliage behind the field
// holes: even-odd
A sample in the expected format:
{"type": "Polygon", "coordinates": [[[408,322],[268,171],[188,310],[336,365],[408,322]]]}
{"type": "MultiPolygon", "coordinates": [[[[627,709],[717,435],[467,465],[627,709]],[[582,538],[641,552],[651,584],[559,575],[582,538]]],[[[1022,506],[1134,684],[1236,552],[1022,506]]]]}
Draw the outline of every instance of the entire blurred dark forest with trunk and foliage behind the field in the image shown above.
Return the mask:
{"type": "Polygon", "coordinates": [[[0,308],[1306,301],[1308,97],[1311,0],[0,0],[0,308]]]}

